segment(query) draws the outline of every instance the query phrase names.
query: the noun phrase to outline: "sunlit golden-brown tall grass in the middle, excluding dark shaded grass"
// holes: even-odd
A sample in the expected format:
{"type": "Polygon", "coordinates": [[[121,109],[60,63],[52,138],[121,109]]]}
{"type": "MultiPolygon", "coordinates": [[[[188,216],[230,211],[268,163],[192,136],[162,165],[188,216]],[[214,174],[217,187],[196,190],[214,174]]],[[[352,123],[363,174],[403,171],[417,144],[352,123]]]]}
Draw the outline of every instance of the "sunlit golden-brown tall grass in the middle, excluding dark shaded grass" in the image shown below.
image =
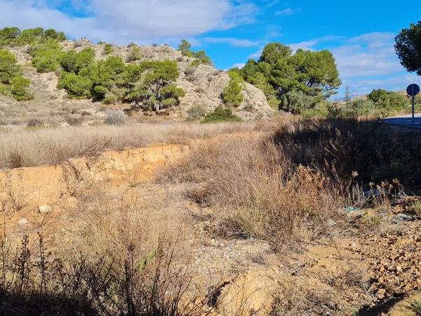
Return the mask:
{"type": "Polygon", "coordinates": [[[293,166],[267,136],[209,140],[169,173],[197,184],[188,195],[213,206],[220,234],[274,246],[325,234],[345,203],[328,178],[293,166]]]}

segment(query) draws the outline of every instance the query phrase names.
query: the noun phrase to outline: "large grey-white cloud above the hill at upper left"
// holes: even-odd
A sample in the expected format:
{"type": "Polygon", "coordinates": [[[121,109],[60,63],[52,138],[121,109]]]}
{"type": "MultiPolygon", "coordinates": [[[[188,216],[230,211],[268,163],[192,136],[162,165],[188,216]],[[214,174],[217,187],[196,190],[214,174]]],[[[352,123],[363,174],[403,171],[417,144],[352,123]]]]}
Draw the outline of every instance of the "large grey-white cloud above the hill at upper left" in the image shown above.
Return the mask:
{"type": "Polygon", "coordinates": [[[250,22],[255,13],[253,4],[234,0],[76,0],[75,4],[90,16],[70,17],[51,1],[0,0],[0,26],[54,27],[74,38],[126,44],[194,37],[250,22]]]}

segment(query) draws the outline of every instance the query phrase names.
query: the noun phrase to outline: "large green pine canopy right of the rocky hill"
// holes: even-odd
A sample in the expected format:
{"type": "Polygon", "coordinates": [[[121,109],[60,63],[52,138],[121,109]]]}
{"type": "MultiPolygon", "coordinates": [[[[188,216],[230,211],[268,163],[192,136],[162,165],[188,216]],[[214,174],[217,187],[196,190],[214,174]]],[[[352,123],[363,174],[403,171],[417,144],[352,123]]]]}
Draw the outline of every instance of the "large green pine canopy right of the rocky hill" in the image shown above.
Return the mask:
{"type": "Polygon", "coordinates": [[[233,71],[260,88],[270,105],[283,110],[312,108],[337,93],[341,84],[332,53],[302,49],[293,53],[280,43],[268,44],[258,61],[248,60],[241,70],[233,71]],[[292,107],[292,100],[297,98],[300,107],[292,107]]]}

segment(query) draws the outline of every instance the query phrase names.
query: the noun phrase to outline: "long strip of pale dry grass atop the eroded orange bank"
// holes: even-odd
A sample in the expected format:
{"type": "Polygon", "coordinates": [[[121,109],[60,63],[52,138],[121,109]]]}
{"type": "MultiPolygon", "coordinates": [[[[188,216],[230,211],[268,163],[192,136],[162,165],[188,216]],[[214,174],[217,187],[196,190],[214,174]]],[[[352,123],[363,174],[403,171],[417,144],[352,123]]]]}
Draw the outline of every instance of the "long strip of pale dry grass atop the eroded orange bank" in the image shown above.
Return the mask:
{"type": "Polygon", "coordinates": [[[0,131],[0,168],[58,164],[72,157],[92,156],[104,150],[143,147],[152,143],[185,144],[197,138],[254,128],[253,123],[173,123],[0,131]]]}

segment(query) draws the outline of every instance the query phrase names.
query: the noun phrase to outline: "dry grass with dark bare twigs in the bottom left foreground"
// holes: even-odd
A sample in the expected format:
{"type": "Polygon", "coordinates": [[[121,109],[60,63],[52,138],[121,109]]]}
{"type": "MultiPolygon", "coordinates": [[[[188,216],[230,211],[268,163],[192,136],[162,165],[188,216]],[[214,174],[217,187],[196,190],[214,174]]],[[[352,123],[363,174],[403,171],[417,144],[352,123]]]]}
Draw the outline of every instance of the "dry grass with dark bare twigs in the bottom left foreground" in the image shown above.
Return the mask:
{"type": "Polygon", "coordinates": [[[77,212],[81,225],[54,254],[41,234],[18,247],[0,236],[2,315],[206,315],[180,220],[99,190],[77,212]]]}

